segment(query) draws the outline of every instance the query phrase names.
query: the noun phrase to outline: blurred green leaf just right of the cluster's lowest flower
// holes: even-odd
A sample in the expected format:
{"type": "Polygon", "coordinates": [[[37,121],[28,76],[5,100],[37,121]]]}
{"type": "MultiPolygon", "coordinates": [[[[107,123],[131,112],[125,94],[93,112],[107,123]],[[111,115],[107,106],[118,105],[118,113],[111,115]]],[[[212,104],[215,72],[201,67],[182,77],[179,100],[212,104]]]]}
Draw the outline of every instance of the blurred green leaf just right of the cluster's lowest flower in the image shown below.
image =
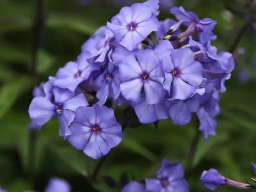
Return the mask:
{"type": "Polygon", "coordinates": [[[151,162],[156,162],[158,160],[158,157],[152,153],[150,150],[144,148],[136,140],[133,140],[132,138],[129,138],[128,136],[125,136],[120,145],[118,146],[120,148],[125,148],[127,150],[130,150],[132,152],[135,152],[151,162]]]}

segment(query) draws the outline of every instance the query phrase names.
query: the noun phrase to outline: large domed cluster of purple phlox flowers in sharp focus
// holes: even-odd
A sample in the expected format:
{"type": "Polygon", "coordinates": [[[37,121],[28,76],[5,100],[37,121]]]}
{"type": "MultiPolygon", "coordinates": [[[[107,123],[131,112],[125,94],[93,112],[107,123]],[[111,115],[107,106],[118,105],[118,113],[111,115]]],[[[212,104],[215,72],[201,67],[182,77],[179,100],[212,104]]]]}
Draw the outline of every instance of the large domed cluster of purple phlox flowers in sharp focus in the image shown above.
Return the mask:
{"type": "Polygon", "coordinates": [[[184,125],[195,113],[204,137],[215,135],[232,54],[211,45],[216,21],[183,7],[170,9],[176,20],[159,21],[158,3],[123,7],[82,45],[75,61],[36,87],[28,128],[40,130],[56,116],[60,136],[97,159],[123,138],[114,110],[105,106],[111,101],[132,106],[142,124],[171,118],[184,125]]]}

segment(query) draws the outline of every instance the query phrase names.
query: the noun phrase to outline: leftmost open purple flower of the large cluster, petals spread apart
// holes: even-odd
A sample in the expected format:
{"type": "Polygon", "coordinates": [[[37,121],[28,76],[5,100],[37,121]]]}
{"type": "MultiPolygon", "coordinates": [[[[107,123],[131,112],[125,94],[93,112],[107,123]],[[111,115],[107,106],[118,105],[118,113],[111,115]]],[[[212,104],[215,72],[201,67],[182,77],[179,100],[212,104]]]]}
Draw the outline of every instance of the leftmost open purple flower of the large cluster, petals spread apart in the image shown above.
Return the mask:
{"type": "Polygon", "coordinates": [[[44,97],[35,97],[29,108],[28,113],[31,122],[36,126],[42,126],[48,122],[52,116],[56,115],[60,123],[60,136],[71,134],[68,127],[74,119],[74,112],[79,106],[88,106],[84,94],[74,96],[69,90],[53,88],[54,103],[44,97]]]}

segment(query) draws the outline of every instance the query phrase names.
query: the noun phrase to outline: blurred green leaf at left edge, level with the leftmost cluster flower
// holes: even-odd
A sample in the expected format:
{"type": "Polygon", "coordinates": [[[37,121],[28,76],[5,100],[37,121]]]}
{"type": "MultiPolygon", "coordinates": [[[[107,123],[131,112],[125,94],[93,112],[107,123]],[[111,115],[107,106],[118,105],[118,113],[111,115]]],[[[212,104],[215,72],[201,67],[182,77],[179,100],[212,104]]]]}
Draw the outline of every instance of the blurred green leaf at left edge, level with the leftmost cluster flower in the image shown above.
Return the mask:
{"type": "Polygon", "coordinates": [[[2,86],[0,89],[0,119],[10,110],[16,99],[30,87],[32,82],[29,77],[21,76],[2,86]]]}

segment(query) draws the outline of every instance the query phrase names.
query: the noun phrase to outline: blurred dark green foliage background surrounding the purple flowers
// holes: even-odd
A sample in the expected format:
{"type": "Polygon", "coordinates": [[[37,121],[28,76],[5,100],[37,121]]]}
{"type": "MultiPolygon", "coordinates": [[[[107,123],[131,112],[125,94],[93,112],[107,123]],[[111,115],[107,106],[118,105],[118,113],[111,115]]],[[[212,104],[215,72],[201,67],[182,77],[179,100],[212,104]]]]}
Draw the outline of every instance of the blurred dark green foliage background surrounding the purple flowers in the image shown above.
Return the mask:
{"type": "MultiPolygon", "coordinates": [[[[134,0],[135,1],[135,0],[134,0]]],[[[218,22],[214,30],[218,50],[229,49],[244,19],[226,10],[226,5],[246,12],[238,0],[160,0],[159,19],[171,17],[170,7],[184,6],[202,19],[218,22]]],[[[48,76],[55,76],[59,67],[76,60],[81,45],[94,31],[132,0],[43,0],[44,28],[36,64],[36,77],[29,74],[32,50],[32,25],[36,0],[0,0],[0,186],[9,192],[33,189],[26,178],[28,163],[28,106],[32,88],[48,76]]],[[[218,135],[200,140],[188,181],[190,192],[206,192],[199,182],[203,170],[216,168],[230,179],[246,182],[256,163],[256,30],[246,32],[236,57],[232,78],[226,82],[227,92],[221,94],[218,135]],[[245,54],[242,55],[242,52],[245,54]]],[[[130,179],[154,177],[163,157],[184,162],[196,123],[175,126],[171,120],[127,129],[124,140],[112,150],[100,175],[119,180],[126,171],[130,179]]],[[[34,190],[43,191],[48,180],[57,176],[66,179],[72,191],[94,191],[84,175],[92,172],[93,161],[73,148],[58,135],[58,122],[53,118],[36,137],[36,170],[34,190]]],[[[184,164],[185,165],[185,164],[184,164]]],[[[99,191],[113,192],[103,184],[99,191]]],[[[236,192],[218,188],[218,192],[236,192]]]]}

